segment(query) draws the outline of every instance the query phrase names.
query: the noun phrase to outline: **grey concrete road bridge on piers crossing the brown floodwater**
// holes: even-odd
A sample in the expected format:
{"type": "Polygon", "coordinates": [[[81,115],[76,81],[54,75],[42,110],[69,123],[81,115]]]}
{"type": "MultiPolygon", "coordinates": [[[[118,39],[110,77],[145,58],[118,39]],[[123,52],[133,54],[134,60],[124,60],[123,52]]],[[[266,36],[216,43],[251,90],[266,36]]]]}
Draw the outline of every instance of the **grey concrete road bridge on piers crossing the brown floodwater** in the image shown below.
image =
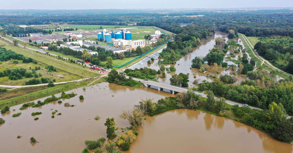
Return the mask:
{"type": "Polygon", "coordinates": [[[170,90],[172,92],[172,94],[175,94],[175,92],[187,92],[188,89],[183,88],[183,87],[178,87],[178,86],[174,86],[174,85],[166,85],[160,82],[155,82],[155,81],[141,81],[144,86],[149,87],[149,86],[155,86],[158,87],[158,90],[161,89],[167,89],[170,90]]]}

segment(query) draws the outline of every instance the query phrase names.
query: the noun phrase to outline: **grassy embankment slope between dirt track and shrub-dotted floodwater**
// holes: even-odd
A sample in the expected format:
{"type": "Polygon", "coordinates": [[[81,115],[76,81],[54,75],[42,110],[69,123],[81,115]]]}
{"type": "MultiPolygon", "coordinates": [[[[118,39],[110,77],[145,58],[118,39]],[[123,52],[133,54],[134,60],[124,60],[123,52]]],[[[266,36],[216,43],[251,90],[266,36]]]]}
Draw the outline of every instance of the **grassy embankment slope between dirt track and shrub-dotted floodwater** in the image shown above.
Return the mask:
{"type": "Polygon", "coordinates": [[[75,88],[84,87],[91,83],[93,80],[80,81],[80,82],[69,82],[64,84],[57,84],[54,87],[38,86],[38,87],[27,87],[18,88],[8,92],[0,93],[0,109],[4,106],[14,106],[28,101],[40,99],[42,97],[58,94],[60,92],[69,91],[75,88]]]}

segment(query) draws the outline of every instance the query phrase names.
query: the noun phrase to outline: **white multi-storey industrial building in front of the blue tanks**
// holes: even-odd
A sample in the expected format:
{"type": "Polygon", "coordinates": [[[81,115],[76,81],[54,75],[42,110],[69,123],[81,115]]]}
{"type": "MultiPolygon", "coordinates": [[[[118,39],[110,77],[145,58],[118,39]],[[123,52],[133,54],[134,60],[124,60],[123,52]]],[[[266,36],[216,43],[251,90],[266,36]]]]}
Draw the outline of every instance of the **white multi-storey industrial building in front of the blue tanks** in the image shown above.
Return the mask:
{"type": "Polygon", "coordinates": [[[145,47],[145,40],[125,40],[125,39],[115,39],[113,40],[113,45],[116,48],[123,48],[128,50],[136,50],[138,46],[144,48],[145,47]],[[130,48],[130,49],[129,49],[130,48]]]}

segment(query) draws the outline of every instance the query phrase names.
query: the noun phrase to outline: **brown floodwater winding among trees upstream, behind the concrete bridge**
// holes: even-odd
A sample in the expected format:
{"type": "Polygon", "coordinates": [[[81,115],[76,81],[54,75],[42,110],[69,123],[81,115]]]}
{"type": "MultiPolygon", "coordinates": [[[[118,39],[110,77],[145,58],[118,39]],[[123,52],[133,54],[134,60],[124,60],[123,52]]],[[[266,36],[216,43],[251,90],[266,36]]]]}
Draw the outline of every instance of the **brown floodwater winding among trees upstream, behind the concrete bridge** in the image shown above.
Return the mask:
{"type": "MultiPolygon", "coordinates": [[[[189,87],[193,87],[194,85],[192,84],[192,82],[194,80],[198,80],[199,83],[201,83],[203,80],[207,80],[209,82],[212,82],[213,79],[212,78],[207,78],[207,74],[209,75],[217,75],[219,77],[219,75],[224,75],[224,74],[228,74],[228,75],[233,75],[234,71],[230,71],[230,70],[225,70],[225,68],[222,68],[221,70],[219,70],[219,74],[216,74],[214,72],[212,72],[212,70],[209,70],[205,73],[201,73],[199,72],[199,69],[198,68],[191,68],[191,64],[192,64],[192,59],[194,59],[194,57],[205,57],[208,53],[209,53],[209,50],[214,48],[214,45],[216,44],[215,43],[215,39],[220,37],[222,39],[226,39],[226,41],[231,41],[231,39],[228,40],[228,34],[227,33],[224,33],[224,32],[220,32],[220,31],[216,31],[215,35],[214,36],[211,36],[209,37],[208,39],[206,40],[202,40],[201,41],[201,45],[198,46],[198,47],[195,47],[193,48],[193,52],[185,55],[184,57],[182,57],[181,59],[179,59],[178,61],[176,61],[176,64],[168,64],[166,67],[170,67],[170,66],[175,66],[176,68],[176,71],[175,72],[172,72],[172,73],[166,73],[166,78],[159,78],[158,81],[159,82],[165,82],[166,84],[169,84],[170,82],[170,78],[173,74],[179,74],[179,73],[184,73],[184,74],[187,74],[189,73],[189,81],[188,82],[188,85],[189,87]],[[193,76],[196,76],[196,78],[194,78],[193,76]]],[[[238,43],[240,45],[243,46],[243,43],[242,41],[240,42],[240,39],[238,40],[238,43]]],[[[243,46],[244,48],[244,46],[243,46]]],[[[227,52],[227,55],[229,54],[229,51],[227,52]]],[[[236,59],[238,58],[238,56],[242,56],[242,54],[244,53],[239,53],[239,54],[235,54],[236,57],[232,57],[232,59],[236,59]]],[[[246,53],[247,54],[247,53],[246,53]]],[[[227,55],[225,57],[227,57],[227,55]]],[[[250,57],[248,56],[248,59],[250,59],[250,57]]],[[[231,61],[228,61],[227,59],[224,59],[224,62],[227,62],[228,65],[230,64],[235,64],[231,61]]],[[[159,69],[159,65],[157,64],[158,61],[154,61],[152,62],[152,64],[145,64],[143,65],[142,67],[149,67],[149,68],[152,68],[152,69],[156,69],[158,70],[159,69]]],[[[235,64],[237,65],[237,64],[235,64]]],[[[157,75],[159,76],[159,75],[157,75]]],[[[240,84],[240,82],[242,80],[245,80],[246,79],[246,75],[236,75],[235,76],[237,78],[237,81],[235,82],[235,84],[240,84]]]]}

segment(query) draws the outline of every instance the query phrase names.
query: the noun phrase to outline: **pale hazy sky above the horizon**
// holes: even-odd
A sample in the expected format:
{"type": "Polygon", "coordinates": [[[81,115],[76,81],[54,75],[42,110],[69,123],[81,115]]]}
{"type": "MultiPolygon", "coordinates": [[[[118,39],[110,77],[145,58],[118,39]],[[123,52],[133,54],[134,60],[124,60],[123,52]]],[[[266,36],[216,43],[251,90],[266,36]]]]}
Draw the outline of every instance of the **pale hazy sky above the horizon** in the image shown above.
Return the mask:
{"type": "Polygon", "coordinates": [[[0,9],[293,7],[293,0],[1,0],[0,9]]]}

